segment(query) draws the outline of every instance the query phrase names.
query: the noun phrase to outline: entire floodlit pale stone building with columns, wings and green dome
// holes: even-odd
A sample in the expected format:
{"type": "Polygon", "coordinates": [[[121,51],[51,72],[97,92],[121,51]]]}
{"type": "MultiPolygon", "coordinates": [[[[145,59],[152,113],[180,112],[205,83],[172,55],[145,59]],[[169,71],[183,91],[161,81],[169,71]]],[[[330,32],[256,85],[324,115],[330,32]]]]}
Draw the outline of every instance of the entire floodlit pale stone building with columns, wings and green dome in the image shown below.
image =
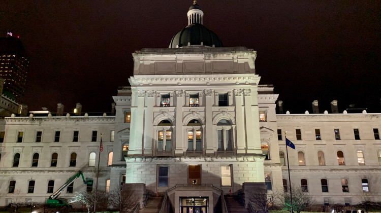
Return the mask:
{"type": "MultiPolygon", "coordinates": [[[[102,137],[101,190],[134,188],[142,208],[147,194],[165,195],[168,212],[223,212],[230,192],[247,207],[250,193],[288,190],[284,132],[296,147],[292,183],[317,204],[381,199],[381,114],[338,113],[337,101],[323,114],[317,101],[313,114],[283,114],[279,101],[276,114],[257,52],[224,47],[197,3],[187,17],[169,48],[133,53],[134,76],[111,113],[77,104],[66,114],[59,103],[57,113],[2,120],[0,206],[45,202],[78,171],[96,180],[102,137]]],[[[76,180],[60,197],[92,188],[76,180]]]]}

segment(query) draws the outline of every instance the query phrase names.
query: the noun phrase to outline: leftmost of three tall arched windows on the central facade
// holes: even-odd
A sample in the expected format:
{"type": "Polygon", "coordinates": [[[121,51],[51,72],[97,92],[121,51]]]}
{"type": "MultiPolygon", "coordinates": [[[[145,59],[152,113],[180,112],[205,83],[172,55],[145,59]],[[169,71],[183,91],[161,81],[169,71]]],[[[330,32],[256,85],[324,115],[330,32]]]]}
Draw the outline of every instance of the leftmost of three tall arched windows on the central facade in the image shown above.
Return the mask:
{"type": "Polygon", "coordinates": [[[170,152],[172,150],[172,124],[169,120],[162,120],[157,126],[157,152],[170,152]]]}

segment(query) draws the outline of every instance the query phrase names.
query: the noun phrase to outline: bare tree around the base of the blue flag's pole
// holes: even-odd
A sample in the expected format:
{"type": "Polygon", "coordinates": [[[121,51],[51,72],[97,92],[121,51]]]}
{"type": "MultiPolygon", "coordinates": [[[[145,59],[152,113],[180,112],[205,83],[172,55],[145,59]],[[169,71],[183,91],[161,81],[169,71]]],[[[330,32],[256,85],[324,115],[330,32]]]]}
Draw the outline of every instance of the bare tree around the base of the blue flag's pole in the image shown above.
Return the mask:
{"type": "MultiPolygon", "coordinates": [[[[313,204],[312,197],[301,187],[292,186],[294,211],[300,213],[304,208],[313,204]]],[[[281,192],[276,196],[277,203],[282,209],[292,211],[290,192],[281,192]]]]}

